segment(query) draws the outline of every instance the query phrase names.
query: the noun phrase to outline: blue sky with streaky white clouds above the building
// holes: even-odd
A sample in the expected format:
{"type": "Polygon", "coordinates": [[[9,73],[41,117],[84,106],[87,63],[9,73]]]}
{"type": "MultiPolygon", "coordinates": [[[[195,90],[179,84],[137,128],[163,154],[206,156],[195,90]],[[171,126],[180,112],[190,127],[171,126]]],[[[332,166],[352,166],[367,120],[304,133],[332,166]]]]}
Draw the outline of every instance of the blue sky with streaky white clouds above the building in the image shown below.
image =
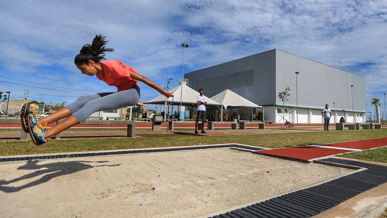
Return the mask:
{"type": "MultiPolygon", "coordinates": [[[[120,60],[165,86],[184,72],[280,49],[365,77],[371,98],[387,92],[387,0],[177,1],[0,0],[0,91],[56,104],[114,91],[82,75],[74,57],[96,34],[120,60]]],[[[159,93],[144,83],[141,101],[159,93]]],[[[256,102],[259,104],[259,102],[256,102]]]]}

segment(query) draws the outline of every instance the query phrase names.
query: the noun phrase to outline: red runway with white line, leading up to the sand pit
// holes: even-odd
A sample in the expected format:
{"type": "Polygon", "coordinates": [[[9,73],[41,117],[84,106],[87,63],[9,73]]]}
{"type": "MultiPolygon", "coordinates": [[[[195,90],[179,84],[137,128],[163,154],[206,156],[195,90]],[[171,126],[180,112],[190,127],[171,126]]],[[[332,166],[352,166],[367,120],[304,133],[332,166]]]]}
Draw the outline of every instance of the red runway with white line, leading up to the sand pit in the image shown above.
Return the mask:
{"type": "Polygon", "coordinates": [[[317,158],[328,157],[332,155],[343,154],[347,152],[353,152],[351,149],[372,149],[387,146],[387,137],[377,139],[366,139],[350,142],[340,142],[326,144],[324,146],[331,146],[331,148],[320,148],[312,146],[301,146],[295,148],[279,148],[270,150],[256,151],[257,154],[264,154],[274,157],[283,157],[287,159],[296,159],[300,161],[311,161],[317,158]],[[340,148],[340,149],[335,149],[340,148]],[[346,148],[348,150],[346,150],[346,148]]]}

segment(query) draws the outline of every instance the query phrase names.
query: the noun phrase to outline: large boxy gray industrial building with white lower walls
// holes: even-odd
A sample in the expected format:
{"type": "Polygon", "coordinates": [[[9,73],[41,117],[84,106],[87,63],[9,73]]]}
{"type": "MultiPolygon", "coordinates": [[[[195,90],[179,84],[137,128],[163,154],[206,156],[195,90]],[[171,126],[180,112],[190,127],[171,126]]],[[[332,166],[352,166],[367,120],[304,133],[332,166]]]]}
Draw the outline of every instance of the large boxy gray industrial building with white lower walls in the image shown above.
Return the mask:
{"type": "Polygon", "coordinates": [[[365,122],[364,77],[278,49],[186,73],[188,86],[214,96],[230,89],[264,106],[265,121],[324,123],[321,110],[329,104],[338,123],[365,122]],[[298,72],[298,74],[296,74],[298,72]],[[283,107],[279,92],[290,88],[283,107]]]}

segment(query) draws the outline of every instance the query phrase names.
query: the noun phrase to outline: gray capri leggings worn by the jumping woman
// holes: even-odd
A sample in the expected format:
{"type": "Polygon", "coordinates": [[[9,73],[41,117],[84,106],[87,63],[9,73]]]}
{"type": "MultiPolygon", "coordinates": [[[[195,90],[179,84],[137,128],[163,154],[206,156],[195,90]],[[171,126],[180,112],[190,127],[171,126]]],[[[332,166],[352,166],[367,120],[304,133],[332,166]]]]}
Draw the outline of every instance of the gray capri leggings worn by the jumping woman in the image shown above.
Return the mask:
{"type": "Polygon", "coordinates": [[[65,106],[71,114],[82,123],[94,112],[115,110],[125,106],[136,105],[140,100],[140,87],[134,85],[118,92],[104,92],[84,95],[65,106]]]}

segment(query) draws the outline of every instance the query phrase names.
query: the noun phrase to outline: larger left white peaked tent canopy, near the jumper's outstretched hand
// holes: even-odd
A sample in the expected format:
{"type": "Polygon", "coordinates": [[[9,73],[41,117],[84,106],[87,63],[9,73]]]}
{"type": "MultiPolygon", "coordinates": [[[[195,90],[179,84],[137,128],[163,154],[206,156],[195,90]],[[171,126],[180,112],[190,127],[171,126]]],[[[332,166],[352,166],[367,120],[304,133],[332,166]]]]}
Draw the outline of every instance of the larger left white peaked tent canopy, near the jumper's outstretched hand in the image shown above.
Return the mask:
{"type": "MultiPolygon", "coordinates": [[[[200,93],[196,90],[193,90],[186,84],[180,84],[179,86],[174,87],[173,89],[169,90],[170,92],[173,92],[174,97],[169,97],[169,99],[164,95],[159,95],[145,103],[149,104],[164,104],[165,102],[169,101],[169,103],[172,103],[174,105],[180,105],[180,96],[181,96],[181,105],[184,106],[197,106],[198,102],[196,101],[196,97],[200,95],[200,93]],[[182,89],[182,90],[181,90],[182,89]],[[181,94],[182,93],[182,94],[181,94]]],[[[220,105],[218,102],[214,101],[213,99],[207,97],[207,103],[208,105],[220,105]]]]}

